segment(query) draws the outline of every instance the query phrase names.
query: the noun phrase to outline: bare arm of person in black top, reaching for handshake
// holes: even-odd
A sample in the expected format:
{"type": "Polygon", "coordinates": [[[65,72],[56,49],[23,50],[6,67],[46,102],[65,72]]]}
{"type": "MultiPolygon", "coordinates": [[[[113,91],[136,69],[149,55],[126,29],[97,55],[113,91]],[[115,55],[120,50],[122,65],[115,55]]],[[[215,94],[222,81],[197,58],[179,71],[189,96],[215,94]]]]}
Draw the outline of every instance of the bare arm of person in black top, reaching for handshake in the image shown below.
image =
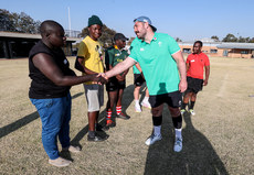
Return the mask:
{"type": "Polygon", "coordinates": [[[85,81],[104,81],[102,77],[97,75],[86,76],[64,76],[61,69],[56,66],[52,57],[47,54],[40,53],[33,57],[33,64],[44,74],[50,80],[57,86],[73,86],[85,81]]]}

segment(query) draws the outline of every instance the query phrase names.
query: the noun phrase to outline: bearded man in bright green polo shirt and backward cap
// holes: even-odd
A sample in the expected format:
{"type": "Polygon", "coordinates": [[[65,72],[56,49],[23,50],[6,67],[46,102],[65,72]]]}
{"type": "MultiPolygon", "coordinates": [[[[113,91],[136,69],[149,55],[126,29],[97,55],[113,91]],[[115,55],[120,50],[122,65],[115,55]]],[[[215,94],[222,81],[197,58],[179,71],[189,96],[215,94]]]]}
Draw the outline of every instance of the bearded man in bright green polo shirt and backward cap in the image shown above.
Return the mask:
{"type": "Polygon", "coordinates": [[[146,144],[151,145],[162,139],[160,130],[166,102],[176,132],[173,150],[180,152],[182,150],[182,116],[179,107],[181,92],[187,89],[186,63],[182,53],[171,36],[156,32],[157,29],[151,25],[149,18],[139,17],[134,22],[137,37],[130,45],[130,55],[113,69],[100,75],[106,78],[113,77],[138,62],[147,81],[154,123],[154,132],[146,144]]]}

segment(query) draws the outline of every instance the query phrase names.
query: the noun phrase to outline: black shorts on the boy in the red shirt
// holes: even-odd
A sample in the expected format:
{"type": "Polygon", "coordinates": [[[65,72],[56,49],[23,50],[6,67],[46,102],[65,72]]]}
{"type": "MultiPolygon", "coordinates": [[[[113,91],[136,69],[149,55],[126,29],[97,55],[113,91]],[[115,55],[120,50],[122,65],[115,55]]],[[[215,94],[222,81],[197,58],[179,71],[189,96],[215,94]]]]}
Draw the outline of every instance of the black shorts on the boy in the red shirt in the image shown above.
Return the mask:
{"type": "Polygon", "coordinates": [[[203,88],[203,79],[187,77],[188,88],[186,92],[198,94],[203,88]]]}

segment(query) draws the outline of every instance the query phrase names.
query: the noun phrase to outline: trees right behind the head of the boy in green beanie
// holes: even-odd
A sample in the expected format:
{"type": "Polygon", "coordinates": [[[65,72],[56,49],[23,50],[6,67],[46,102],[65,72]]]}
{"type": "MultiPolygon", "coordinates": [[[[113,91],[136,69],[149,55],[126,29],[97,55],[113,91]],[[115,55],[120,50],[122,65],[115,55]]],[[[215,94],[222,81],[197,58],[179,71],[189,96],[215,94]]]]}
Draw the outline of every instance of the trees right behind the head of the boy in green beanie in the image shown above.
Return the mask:
{"type": "MultiPolygon", "coordinates": [[[[116,31],[107,28],[107,25],[103,24],[103,34],[99,37],[99,41],[104,44],[104,47],[108,47],[113,45],[113,37],[116,34],[116,31]]],[[[89,34],[88,26],[82,30],[81,36],[85,37],[89,34]]]]}

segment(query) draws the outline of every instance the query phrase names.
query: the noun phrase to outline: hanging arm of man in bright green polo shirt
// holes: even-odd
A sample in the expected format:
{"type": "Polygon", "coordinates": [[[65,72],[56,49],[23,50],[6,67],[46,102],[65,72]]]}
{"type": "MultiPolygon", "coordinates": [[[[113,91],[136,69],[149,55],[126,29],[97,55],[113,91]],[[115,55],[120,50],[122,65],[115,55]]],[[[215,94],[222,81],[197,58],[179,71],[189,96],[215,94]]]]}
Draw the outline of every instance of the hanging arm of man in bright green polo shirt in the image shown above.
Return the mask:
{"type": "Polygon", "coordinates": [[[172,55],[172,57],[177,62],[178,69],[179,69],[179,73],[180,73],[181,80],[180,80],[180,84],[179,84],[179,90],[181,92],[183,92],[187,89],[187,74],[186,74],[187,70],[186,70],[186,63],[184,63],[184,59],[183,59],[181,51],[174,53],[172,55]]]}

